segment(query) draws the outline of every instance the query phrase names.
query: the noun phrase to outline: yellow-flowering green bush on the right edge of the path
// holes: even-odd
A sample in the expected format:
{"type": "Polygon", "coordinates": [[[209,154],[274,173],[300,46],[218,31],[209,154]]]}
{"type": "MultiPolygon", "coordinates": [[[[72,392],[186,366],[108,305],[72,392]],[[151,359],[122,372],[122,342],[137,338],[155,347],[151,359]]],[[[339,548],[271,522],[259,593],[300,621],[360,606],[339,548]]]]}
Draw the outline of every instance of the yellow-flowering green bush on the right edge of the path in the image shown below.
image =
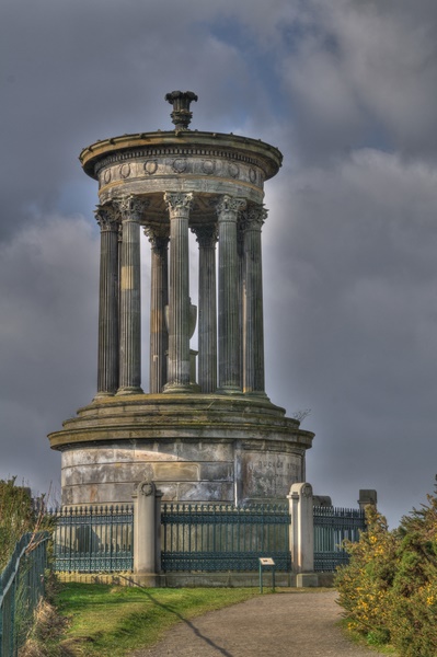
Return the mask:
{"type": "Polygon", "coordinates": [[[402,657],[437,655],[437,497],[413,509],[395,531],[370,508],[368,529],[346,544],[338,602],[348,626],[369,643],[391,643],[402,657]]]}

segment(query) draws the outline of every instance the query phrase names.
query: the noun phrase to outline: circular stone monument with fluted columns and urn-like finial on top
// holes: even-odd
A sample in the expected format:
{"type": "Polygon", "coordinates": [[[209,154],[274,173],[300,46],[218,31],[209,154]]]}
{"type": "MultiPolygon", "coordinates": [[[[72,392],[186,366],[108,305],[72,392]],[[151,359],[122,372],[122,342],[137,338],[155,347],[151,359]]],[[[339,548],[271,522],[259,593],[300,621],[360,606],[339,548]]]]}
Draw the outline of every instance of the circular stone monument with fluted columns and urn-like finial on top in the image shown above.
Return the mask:
{"type": "Polygon", "coordinates": [[[264,182],[281,153],[261,140],[188,129],[193,92],[165,100],[174,130],[113,137],[80,153],[99,182],[97,391],[49,435],[61,452],[64,505],[127,503],[143,480],[164,500],[241,505],[284,499],[306,480],[313,434],[264,390],[264,182]],[[197,351],[189,231],[198,242],[197,351]],[[151,247],[148,393],[141,232],[151,247]]]}

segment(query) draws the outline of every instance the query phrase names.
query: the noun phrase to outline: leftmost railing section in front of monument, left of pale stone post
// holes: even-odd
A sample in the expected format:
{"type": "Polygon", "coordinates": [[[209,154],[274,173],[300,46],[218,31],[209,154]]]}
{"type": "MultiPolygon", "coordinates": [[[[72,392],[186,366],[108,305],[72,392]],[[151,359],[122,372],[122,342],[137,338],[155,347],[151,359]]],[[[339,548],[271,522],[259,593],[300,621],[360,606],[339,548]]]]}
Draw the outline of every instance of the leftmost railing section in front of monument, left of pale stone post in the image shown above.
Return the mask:
{"type": "Polygon", "coordinates": [[[56,518],[55,572],[134,569],[133,505],[62,507],[48,514],[56,518]]]}

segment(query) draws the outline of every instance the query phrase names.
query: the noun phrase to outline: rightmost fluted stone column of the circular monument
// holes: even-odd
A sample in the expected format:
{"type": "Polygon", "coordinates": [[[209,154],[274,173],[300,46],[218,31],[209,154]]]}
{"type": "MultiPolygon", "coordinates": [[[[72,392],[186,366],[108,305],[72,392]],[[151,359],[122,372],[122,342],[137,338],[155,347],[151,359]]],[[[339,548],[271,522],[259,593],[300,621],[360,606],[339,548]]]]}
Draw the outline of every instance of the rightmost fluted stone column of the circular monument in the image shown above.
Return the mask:
{"type": "Polygon", "coordinates": [[[243,392],[265,396],[264,318],[261,228],[267,212],[251,208],[244,216],[243,392]]]}

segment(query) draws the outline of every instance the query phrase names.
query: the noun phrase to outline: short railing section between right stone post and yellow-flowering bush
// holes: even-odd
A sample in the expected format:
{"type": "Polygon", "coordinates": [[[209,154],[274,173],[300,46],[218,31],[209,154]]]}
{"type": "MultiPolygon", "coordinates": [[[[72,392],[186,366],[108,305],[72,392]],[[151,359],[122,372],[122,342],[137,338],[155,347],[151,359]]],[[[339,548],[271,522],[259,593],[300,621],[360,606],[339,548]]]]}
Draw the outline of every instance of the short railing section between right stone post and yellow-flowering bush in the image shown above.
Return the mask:
{"type": "Polygon", "coordinates": [[[366,530],[364,509],[314,507],[314,570],[334,572],[349,562],[345,540],[356,543],[366,530]]]}

